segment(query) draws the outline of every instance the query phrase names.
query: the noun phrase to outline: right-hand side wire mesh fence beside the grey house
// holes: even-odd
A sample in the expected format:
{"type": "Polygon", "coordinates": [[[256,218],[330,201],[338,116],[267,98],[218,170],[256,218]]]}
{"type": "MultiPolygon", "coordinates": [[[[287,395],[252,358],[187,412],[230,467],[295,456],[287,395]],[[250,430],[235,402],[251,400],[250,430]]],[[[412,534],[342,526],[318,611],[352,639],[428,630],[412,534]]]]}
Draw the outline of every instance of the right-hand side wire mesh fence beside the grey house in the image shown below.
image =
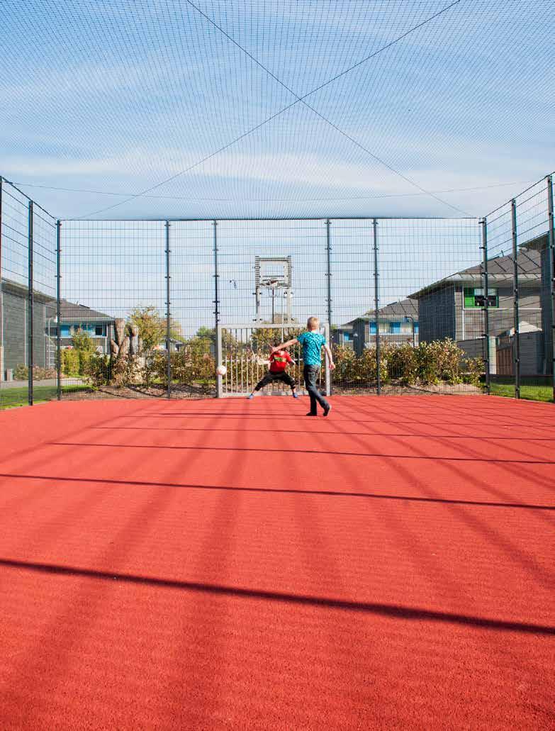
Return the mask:
{"type": "Polygon", "coordinates": [[[489,390],[548,401],[555,384],[551,175],[486,216],[484,227],[489,390]]]}

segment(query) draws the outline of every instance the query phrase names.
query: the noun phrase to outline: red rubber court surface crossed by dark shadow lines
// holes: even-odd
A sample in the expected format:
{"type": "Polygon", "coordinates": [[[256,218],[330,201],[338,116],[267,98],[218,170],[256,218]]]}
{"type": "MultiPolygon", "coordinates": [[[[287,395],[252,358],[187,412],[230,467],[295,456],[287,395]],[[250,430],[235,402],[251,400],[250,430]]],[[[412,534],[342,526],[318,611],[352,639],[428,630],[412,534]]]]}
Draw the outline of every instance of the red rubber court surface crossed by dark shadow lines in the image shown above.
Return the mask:
{"type": "Polygon", "coordinates": [[[553,729],[555,407],[0,414],[6,729],[553,729]]]}

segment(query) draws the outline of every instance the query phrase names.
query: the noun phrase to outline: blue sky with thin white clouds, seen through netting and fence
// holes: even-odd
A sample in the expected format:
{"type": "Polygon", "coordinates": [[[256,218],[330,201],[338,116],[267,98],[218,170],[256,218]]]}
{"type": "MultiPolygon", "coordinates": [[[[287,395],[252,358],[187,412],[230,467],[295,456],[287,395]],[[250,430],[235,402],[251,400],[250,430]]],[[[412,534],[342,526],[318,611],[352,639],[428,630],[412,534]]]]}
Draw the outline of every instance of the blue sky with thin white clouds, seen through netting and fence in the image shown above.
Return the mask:
{"type": "MultiPolygon", "coordinates": [[[[555,167],[554,23],[543,1],[449,4],[4,0],[0,174],[61,219],[108,221],[64,223],[64,297],[164,311],[163,227],[110,219],[319,219],[220,224],[227,321],[254,316],[257,254],[291,254],[295,316],[325,315],[328,216],[450,217],[380,224],[382,304],[475,265],[476,221],[453,216],[483,216],[555,167]]],[[[521,208],[533,232],[542,185],[521,208]]],[[[12,259],[26,246],[15,218],[12,259]]],[[[331,230],[337,323],[374,306],[371,223],[331,230]]],[[[508,209],[499,232],[503,251],[508,209]]],[[[213,321],[211,223],[172,235],[172,306],[191,334],[213,321]]]]}

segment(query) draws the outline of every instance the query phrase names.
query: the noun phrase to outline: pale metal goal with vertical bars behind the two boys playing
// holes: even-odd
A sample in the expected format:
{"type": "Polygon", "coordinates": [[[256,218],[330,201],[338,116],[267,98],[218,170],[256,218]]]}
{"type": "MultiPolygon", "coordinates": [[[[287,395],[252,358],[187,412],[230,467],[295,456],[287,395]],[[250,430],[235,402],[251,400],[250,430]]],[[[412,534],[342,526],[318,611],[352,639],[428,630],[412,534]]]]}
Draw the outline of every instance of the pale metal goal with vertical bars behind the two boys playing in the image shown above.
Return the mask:
{"type": "MultiPolygon", "coordinates": [[[[304,328],[298,322],[284,322],[279,325],[248,322],[218,325],[216,327],[216,367],[225,366],[224,376],[216,373],[216,395],[246,396],[268,370],[268,357],[273,341],[287,341],[294,338],[304,328]],[[275,333],[275,336],[274,336],[275,333]]],[[[330,326],[325,322],[320,332],[329,344],[330,326]]],[[[290,349],[295,365],[287,372],[295,379],[298,393],[306,393],[303,380],[303,354],[299,346],[290,349]]],[[[324,357],[324,367],[320,373],[320,389],[327,395],[331,393],[331,371],[328,356],[324,357]]],[[[266,393],[287,395],[289,387],[278,382],[266,387],[266,393]]]]}

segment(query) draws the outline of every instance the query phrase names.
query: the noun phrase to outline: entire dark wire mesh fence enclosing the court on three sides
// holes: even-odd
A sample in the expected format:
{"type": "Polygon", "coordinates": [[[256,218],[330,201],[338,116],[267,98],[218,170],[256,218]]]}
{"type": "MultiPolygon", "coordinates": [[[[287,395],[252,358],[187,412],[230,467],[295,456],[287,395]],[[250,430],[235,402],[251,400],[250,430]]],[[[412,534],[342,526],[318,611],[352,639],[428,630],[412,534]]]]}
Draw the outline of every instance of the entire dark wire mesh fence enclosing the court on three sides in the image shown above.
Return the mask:
{"type": "Polygon", "coordinates": [[[56,221],[5,180],[0,203],[2,406],[246,395],[309,317],[325,393],[552,393],[551,176],[480,220],[56,221]]]}

